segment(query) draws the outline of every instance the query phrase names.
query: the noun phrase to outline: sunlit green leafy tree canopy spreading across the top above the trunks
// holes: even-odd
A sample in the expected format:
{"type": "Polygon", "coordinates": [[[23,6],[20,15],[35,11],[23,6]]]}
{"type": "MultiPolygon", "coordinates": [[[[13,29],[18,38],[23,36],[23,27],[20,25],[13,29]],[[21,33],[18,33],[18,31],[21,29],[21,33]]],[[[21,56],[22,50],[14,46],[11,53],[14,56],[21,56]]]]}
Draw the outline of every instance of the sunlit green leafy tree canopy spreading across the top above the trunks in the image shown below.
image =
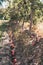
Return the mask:
{"type": "Polygon", "coordinates": [[[40,0],[6,1],[9,2],[9,7],[2,11],[4,19],[28,21],[32,16],[33,22],[36,22],[35,17],[43,16],[43,3],[40,0]]]}

